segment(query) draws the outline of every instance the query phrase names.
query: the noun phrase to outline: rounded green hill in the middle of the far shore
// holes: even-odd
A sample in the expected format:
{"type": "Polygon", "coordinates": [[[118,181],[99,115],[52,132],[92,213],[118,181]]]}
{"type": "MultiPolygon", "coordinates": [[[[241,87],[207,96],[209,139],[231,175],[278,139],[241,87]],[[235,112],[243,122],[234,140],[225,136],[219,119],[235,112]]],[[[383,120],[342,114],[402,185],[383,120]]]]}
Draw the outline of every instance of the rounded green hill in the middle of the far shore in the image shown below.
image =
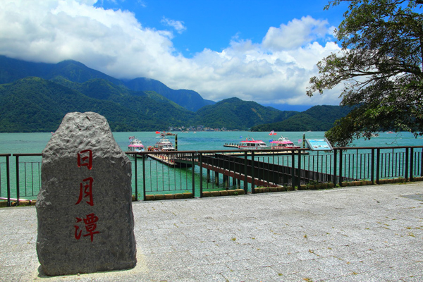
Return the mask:
{"type": "Polygon", "coordinates": [[[247,102],[238,98],[224,99],[214,105],[204,106],[197,111],[197,123],[214,128],[236,129],[251,128],[254,125],[281,121],[297,112],[279,111],[256,102],[247,102]]]}

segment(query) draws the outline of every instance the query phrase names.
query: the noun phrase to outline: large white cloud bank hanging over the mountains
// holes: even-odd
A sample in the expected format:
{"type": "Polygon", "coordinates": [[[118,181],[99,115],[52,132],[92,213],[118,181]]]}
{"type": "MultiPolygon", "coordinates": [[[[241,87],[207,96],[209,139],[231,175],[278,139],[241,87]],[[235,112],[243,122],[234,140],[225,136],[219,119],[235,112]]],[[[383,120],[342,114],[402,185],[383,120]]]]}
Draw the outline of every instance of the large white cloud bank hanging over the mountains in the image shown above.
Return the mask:
{"type": "MultiPolygon", "coordinates": [[[[305,95],[316,63],[337,44],[333,27],[309,16],[269,27],[262,42],[234,38],[221,51],[185,58],[172,32],[143,27],[129,11],[93,6],[94,0],[2,1],[0,54],[57,63],[73,59],[115,78],[154,78],[204,99],[239,97],[261,104],[338,104],[337,90],[305,95]],[[327,42],[327,43],[319,43],[327,42]]],[[[163,18],[177,32],[182,21],[163,18]]]]}

